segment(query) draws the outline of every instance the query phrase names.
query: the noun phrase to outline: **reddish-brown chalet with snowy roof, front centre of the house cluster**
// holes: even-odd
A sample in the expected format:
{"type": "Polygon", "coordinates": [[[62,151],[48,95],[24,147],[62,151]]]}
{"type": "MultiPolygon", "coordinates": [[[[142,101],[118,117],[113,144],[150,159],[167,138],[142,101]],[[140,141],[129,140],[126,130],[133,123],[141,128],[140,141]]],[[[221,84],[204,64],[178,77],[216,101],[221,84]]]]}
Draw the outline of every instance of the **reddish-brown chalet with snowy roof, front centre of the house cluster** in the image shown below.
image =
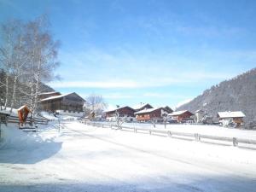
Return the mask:
{"type": "Polygon", "coordinates": [[[168,110],[166,108],[145,108],[134,114],[137,121],[148,121],[151,119],[163,119],[167,116],[168,110]]]}

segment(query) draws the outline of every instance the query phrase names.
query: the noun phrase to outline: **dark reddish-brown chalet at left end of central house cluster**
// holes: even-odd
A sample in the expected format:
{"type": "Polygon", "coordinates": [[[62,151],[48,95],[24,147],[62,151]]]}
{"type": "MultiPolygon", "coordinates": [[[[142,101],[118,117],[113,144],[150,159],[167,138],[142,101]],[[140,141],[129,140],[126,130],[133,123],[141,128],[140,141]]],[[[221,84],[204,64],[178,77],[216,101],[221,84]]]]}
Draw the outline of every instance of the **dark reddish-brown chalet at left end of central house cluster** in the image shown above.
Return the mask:
{"type": "Polygon", "coordinates": [[[113,108],[112,110],[105,111],[106,119],[115,120],[116,114],[119,114],[119,117],[134,117],[135,109],[130,108],[129,106],[113,108]]]}

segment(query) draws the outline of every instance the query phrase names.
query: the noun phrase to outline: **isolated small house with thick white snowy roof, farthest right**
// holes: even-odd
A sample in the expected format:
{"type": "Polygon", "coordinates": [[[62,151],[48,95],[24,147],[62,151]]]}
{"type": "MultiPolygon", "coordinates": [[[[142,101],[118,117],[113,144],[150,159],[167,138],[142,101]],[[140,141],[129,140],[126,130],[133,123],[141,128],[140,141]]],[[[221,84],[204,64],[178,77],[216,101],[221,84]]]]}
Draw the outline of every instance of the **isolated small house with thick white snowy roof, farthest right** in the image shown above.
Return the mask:
{"type": "Polygon", "coordinates": [[[217,115],[219,119],[219,123],[221,123],[224,126],[232,124],[236,124],[237,126],[241,126],[243,124],[243,118],[246,117],[244,113],[241,111],[235,111],[235,112],[218,112],[217,115]]]}

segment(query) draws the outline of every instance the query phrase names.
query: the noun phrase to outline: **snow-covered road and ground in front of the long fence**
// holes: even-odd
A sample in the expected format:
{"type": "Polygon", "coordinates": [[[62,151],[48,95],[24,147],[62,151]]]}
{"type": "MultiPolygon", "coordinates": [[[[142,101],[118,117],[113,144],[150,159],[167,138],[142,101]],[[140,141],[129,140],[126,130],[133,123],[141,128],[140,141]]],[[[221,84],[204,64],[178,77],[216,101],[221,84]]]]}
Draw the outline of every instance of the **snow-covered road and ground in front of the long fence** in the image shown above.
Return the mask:
{"type": "Polygon", "coordinates": [[[66,123],[2,128],[0,191],[255,191],[256,151],[66,123]]]}

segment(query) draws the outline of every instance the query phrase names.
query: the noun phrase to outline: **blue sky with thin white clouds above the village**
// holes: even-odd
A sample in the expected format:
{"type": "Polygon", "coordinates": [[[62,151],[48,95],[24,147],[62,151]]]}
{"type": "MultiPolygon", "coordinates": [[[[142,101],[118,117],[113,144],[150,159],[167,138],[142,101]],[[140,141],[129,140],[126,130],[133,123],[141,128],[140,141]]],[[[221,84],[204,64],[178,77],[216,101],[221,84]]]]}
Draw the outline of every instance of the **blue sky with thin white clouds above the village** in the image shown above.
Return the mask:
{"type": "Polygon", "coordinates": [[[0,22],[42,14],[61,40],[50,85],[110,106],[174,107],[256,67],[256,1],[0,0],[0,22]]]}

